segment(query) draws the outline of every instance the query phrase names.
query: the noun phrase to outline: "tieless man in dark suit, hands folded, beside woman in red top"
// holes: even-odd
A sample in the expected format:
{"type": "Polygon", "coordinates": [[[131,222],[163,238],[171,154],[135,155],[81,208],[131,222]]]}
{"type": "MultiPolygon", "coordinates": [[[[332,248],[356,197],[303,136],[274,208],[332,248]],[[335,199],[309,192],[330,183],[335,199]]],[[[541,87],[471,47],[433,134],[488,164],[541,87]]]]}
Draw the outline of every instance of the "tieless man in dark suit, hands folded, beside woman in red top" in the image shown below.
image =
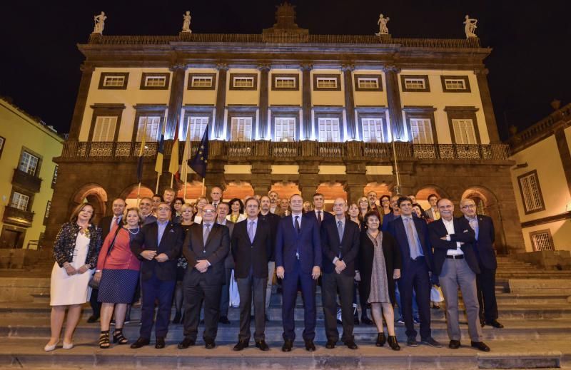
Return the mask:
{"type": "Polygon", "coordinates": [[[157,206],[157,221],[145,225],[131,242],[131,252],[142,260],[141,263],[141,331],[131,348],[141,348],[149,344],[155,302],[156,349],[164,348],[171,319],[173,292],[176,284],[176,262],[181,255],[184,231],[180,225],[171,222],[171,205],[160,202],[157,206]]]}

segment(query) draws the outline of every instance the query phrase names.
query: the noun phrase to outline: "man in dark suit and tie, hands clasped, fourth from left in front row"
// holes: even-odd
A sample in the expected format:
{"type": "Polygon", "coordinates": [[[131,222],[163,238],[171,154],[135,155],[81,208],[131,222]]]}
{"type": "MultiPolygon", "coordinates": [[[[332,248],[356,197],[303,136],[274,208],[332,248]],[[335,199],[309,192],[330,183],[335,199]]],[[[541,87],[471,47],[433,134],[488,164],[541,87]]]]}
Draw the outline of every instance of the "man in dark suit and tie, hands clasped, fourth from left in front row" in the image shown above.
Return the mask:
{"type": "Polygon", "coordinates": [[[202,209],[202,223],[191,225],[183,245],[188,261],[184,274],[184,339],[179,349],[196,344],[201,305],[204,301],[204,333],[206,349],[216,346],[220,319],[220,297],[226,273],[224,261],[230,251],[228,227],[216,223],[213,205],[202,209]]]}

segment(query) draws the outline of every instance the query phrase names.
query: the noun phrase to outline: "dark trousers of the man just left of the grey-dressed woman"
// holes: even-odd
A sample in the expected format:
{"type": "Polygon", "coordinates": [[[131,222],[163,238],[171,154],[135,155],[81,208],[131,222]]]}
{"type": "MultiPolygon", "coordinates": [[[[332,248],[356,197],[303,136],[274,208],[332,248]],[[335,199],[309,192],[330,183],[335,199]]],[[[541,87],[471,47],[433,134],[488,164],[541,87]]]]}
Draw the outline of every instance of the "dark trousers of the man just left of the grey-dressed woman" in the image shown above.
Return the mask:
{"type": "Polygon", "coordinates": [[[337,330],[337,291],[341,301],[341,318],[343,319],[343,342],[353,340],[353,277],[332,272],[321,276],[321,298],[323,314],[325,314],[325,335],[328,340],[338,341],[337,330]]]}

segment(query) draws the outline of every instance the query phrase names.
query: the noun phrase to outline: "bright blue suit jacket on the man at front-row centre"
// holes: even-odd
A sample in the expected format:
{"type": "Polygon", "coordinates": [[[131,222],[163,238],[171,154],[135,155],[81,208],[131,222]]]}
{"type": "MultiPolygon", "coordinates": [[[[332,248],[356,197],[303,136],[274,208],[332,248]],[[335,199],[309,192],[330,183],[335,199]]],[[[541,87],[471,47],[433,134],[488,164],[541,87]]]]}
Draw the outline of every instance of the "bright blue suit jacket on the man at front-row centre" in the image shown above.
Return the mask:
{"type": "Polygon", "coordinates": [[[283,217],[278,224],[276,236],[276,267],[282,266],[285,273],[295,269],[295,253],[299,251],[301,272],[311,274],[314,266],[321,267],[321,238],[317,219],[303,214],[300,232],[293,227],[293,216],[283,217]]]}

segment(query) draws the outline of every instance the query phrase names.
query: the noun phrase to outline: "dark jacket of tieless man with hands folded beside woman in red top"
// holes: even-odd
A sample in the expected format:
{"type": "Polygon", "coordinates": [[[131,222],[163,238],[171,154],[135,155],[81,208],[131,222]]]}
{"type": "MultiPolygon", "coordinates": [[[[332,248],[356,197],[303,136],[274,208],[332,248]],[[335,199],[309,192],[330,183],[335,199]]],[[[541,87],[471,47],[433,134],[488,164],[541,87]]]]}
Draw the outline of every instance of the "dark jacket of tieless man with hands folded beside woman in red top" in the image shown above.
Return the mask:
{"type": "Polygon", "coordinates": [[[176,279],[176,262],[181,255],[181,247],[184,240],[184,231],[181,225],[176,225],[169,221],[161,237],[161,242],[157,245],[158,225],[156,222],[144,225],[138,232],[133,242],[131,242],[131,252],[141,259],[141,279],[148,280],[156,277],[162,281],[176,279]],[[158,262],[156,259],[144,259],[141,257],[143,250],[155,250],[157,255],[164,253],[168,256],[165,262],[158,262]]]}

